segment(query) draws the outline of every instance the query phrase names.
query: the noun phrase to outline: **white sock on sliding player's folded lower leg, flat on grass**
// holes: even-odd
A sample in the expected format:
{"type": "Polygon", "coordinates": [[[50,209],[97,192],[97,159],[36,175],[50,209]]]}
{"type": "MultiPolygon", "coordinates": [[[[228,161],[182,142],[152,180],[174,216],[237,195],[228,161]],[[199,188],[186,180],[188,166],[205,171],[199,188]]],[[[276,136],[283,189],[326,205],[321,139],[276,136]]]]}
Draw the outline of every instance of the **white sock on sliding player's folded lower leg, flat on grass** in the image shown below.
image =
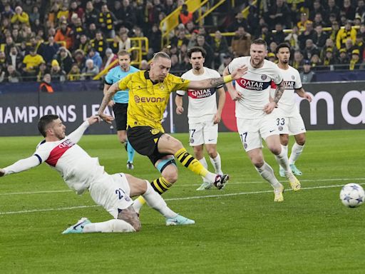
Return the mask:
{"type": "Polygon", "coordinates": [[[135,232],[135,229],[130,223],[125,222],[125,220],[112,219],[101,223],[88,223],[83,227],[83,233],[93,232],[135,232]]]}

